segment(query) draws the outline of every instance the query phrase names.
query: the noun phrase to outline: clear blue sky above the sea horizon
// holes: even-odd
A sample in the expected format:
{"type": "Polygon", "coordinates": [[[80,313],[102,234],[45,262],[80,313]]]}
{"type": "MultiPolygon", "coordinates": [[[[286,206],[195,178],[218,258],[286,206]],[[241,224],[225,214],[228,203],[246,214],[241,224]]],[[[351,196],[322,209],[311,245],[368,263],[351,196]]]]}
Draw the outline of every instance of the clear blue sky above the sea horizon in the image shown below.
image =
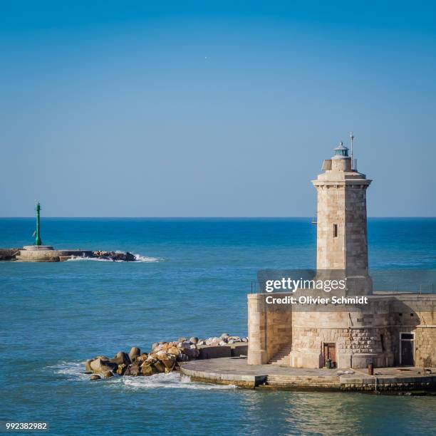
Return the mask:
{"type": "Polygon", "coordinates": [[[434,2],[1,1],[0,216],[436,216],[434,2]],[[89,4],[92,3],[92,4],[89,4]]]}

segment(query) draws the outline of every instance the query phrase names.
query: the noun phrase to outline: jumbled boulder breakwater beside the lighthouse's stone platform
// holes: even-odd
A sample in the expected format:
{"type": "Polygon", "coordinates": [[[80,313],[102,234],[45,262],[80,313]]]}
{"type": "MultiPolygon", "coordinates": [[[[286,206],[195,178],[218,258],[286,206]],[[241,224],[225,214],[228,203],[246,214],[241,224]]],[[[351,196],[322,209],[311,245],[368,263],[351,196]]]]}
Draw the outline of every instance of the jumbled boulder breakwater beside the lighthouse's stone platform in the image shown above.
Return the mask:
{"type": "Polygon", "coordinates": [[[189,360],[239,357],[246,355],[247,351],[248,338],[227,333],[204,340],[179,338],[177,341],[153,343],[150,353],[141,353],[140,348],[133,347],[129,353],[119,351],[114,358],[98,355],[86,360],[85,373],[90,374],[90,380],[110,378],[115,374],[148,376],[180,370],[180,365],[189,360]]]}

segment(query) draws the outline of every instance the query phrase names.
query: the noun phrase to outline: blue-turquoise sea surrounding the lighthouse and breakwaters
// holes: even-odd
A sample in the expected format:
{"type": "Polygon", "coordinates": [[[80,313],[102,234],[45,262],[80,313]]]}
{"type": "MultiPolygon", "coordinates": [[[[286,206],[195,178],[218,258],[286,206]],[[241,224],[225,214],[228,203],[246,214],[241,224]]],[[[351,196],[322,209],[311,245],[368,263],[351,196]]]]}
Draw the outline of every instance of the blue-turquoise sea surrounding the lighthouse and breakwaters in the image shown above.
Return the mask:
{"type": "MultiPolygon", "coordinates": [[[[311,268],[310,219],[43,219],[58,248],[129,250],[135,263],[0,262],[0,420],[58,435],[432,435],[436,398],[265,393],[177,375],[90,383],[93,355],[179,336],[246,335],[259,269],[311,268]]],[[[33,219],[0,219],[0,246],[31,243],[33,219]]],[[[436,219],[370,219],[373,269],[435,269],[436,219]]]]}

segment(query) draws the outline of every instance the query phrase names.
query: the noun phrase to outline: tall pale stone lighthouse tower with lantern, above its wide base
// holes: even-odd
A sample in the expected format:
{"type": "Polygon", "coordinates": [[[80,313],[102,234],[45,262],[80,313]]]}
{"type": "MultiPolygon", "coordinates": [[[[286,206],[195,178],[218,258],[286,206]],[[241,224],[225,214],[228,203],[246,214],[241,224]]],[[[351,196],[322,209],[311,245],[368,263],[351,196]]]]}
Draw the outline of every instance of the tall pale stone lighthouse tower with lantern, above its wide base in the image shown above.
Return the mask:
{"type": "Polygon", "coordinates": [[[318,275],[343,271],[347,295],[370,295],[366,188],[371,180],[352,168],[342,142],[334,151],[312,181],[318,191],[316,269],[318,275]]]}

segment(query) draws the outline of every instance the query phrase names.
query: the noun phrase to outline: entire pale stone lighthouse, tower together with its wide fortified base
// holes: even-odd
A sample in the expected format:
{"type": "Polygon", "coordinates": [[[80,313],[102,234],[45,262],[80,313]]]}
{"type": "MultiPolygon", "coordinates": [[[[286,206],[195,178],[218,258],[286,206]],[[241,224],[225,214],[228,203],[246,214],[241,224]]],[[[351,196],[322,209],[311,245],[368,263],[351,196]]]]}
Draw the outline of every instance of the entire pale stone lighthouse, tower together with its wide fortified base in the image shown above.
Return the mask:
{"type": "MultiPolygon", "coordinates": [[[[339,271],[341,295],[365,304],[268,303],[294,293],[249,294],[248,363],[296,368],[436,367],[435,294],[373,291],[368,271],[366,190],[371,180],[352,167],[342,143],[313,181],[318,193],[317,275],[339,271]]],[[[277,301],[277,300],[276,300],[277,301]]]]}

